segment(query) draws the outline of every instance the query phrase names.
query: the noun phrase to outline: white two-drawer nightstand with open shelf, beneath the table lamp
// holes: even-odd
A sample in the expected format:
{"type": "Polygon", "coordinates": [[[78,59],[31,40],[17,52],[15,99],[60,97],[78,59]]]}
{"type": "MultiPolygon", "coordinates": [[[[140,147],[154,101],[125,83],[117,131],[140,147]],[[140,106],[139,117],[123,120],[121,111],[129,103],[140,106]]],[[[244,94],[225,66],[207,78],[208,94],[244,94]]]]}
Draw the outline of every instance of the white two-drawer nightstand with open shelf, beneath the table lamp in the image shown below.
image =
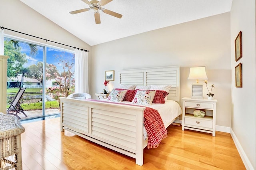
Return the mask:
{"type": "Polygon", "coordinates": [[[191,99],[190,97],[182,98],[182,130],[190,129],[200,132],[216,132],[216,99],[191,99]],[[194,110],[200,109],[205,111],[205,117],[195,117],[194,110]]]}

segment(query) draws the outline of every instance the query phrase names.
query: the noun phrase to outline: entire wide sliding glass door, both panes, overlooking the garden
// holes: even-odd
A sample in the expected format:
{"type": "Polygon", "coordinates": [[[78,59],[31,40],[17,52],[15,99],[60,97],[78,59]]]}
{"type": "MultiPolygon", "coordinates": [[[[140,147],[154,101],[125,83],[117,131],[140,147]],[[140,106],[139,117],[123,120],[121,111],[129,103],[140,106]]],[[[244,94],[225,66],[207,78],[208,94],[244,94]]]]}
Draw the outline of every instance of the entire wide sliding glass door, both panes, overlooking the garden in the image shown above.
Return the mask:
{"type": "Polygon", "coordinates": [[[8,55],[7,105],[11,114],[32,119],[60,113],[59,97],[74,92],[74,53],[4,38],[8,55]],[[26,88],[22,97],[16,96],[26,88]]]}

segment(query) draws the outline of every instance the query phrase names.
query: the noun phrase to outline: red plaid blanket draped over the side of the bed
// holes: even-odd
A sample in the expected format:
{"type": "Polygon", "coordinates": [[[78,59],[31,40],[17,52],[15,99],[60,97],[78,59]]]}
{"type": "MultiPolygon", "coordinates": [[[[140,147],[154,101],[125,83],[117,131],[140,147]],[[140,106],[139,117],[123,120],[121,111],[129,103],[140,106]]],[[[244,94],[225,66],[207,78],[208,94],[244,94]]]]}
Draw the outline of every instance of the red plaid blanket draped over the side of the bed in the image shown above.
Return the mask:
{"type": "Polygon", "coordinates": [[[144,126],[148,133],[148,149],[158,147],[162,139],[167,137],[167,130],[156,109],[146,107],[144,110],[144,126]]]}

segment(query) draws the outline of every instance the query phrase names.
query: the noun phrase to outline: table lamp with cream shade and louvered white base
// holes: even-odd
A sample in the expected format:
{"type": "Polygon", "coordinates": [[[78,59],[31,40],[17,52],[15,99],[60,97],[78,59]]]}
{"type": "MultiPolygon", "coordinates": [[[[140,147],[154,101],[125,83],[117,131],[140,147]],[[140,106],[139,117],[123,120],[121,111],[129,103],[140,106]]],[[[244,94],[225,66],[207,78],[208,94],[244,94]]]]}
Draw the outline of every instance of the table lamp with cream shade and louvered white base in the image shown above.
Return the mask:
{"type": "Polygon", "coordinates": [[[192,84],[192,99],[203,99],[203,84],[198,83],[198,80],[207,80],[205,67],[190,67],[188,79],[196,80],[192,84]]]}

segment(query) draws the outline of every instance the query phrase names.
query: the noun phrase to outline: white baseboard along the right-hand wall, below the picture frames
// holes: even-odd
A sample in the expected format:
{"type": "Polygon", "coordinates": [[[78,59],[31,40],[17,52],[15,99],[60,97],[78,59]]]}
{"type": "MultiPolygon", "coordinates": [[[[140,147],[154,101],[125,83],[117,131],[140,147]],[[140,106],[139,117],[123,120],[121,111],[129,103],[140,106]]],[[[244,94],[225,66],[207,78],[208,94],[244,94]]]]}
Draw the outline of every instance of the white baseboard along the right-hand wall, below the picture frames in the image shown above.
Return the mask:
{"type": "Polygon", "coordinates": [[[250,160],[249,160],[248,157],[246,156],[246,154],[245,154],[245,152],[244,152],[244,150],[243,150],[243,148],[242,148],[242,146],[241,146],[241,144],[240,144],[238,138],[236,137],[236,134],[235,134],[234,131],[232,130],[232,128],[230,128],[230,134],[231,134],[231,137],[232,137],[232,139],[233,139],[233,141],[234,141],[234,143],[235,143],[235,145],[236,145],[236,148],[237,148],[237,150],[238,150],[238,153],[240,154],[240,157],[241,157],[241,159],[242,159],[242,161],[243,161],[243,163],[244,163],[245,168],[246,168],[247,170],[253,170],[254,168],[253,168],[253,166],[252,166],[250,160]]]}

